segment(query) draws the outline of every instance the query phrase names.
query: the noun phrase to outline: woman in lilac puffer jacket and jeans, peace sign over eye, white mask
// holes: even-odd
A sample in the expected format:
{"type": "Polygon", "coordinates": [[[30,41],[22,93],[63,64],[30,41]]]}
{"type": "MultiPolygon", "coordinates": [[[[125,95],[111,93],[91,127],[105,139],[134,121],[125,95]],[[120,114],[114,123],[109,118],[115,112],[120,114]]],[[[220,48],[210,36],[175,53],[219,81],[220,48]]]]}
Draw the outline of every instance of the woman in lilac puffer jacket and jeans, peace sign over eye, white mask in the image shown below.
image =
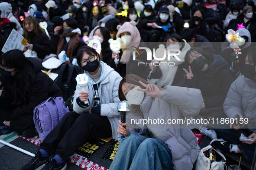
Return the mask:
{"type": "Polygon", "coordinates": [[[126,123],[119,120],[117,132],[121,142],[109,169],[192,170],[199,146],[186,125],[143,124],[133,120],[167,121],[197,115],[203,103],[201,92],[176,86],[161,91],[136,75],[127,75],[120,82],[118,96],[120,101],[127,100],[131,104],[131,111],[126,123]]]}

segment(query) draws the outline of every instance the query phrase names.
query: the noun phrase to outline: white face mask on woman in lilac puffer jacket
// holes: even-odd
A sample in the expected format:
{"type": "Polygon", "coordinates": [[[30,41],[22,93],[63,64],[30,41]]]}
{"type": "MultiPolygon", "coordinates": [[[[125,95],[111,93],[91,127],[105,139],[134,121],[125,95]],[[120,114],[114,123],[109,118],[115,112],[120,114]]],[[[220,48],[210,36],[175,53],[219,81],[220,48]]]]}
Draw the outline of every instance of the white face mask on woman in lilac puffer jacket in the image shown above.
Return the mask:
{"type": "Polygon", "coordinates": [[[127,99],[129,104],[139,105],[143,101],[144,92],[143,91],[138,91],[137,90],[138,88],[139,88],[139,86],[137,86],[136,88],[133,88],[131,91],[129,91],[126,94],[126,99],[127,99]]]}

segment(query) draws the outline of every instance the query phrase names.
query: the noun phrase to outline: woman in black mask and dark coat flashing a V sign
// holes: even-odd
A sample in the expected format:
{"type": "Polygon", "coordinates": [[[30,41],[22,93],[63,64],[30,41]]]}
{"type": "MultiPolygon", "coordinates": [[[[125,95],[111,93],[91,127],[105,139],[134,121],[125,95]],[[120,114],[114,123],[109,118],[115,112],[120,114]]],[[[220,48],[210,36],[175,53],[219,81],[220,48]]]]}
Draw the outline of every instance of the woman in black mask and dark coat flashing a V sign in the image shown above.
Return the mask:
{"type": "MultiPolygon", "coordinates": [[[[201,111],[195,119],[209,119],[224,117],[223,103],[230,85],[234,81],[230,72],[226,69],[227,62],[217,54],[210,54],[198,47],[192,47],[185,56],[189,70],[186,74],[185,87],[198,88],[204,98],[201,111]]],[[[214,124],[190,124],[189,128],[198,129],[211,139],[217,138],[213,129],[214,124]]]]}

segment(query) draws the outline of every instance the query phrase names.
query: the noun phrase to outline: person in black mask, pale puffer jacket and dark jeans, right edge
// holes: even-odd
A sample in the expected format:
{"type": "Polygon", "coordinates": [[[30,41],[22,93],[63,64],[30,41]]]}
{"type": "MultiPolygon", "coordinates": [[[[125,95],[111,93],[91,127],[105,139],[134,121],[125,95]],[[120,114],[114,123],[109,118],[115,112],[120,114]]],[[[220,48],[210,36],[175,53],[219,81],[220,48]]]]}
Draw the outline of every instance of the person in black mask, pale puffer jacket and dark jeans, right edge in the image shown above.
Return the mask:
{"type": "Polygon", "coordinates": [[[227,98],[223,104],[224,113],[228,118],[238,117],[238,123],[231,121],[230,124],[218,123],[215,125],[217,135],[223,140],[214,141],[213,145],[219,147],[224,152],[231,152],[229,148],[221,146],[220,142],[226,141],[226,146],[232,146],[235,153],[242,153],[246,161],[253,161],[253,154],[256,148],[256,46],[251,47],[247,53],[244,66],[244,75],[237,78],[227,93],[227,98]],[[242,122],[248,120],[248,122],[242,122]],[[245,125],[246,123],[246,125],[245,125]],[[241,129],[243,126],[246,129],[241,129]],[[240,142],[241,133],[252,142],[240,142]],[[239,144],[239,145],[233,145],[239,144]]]}

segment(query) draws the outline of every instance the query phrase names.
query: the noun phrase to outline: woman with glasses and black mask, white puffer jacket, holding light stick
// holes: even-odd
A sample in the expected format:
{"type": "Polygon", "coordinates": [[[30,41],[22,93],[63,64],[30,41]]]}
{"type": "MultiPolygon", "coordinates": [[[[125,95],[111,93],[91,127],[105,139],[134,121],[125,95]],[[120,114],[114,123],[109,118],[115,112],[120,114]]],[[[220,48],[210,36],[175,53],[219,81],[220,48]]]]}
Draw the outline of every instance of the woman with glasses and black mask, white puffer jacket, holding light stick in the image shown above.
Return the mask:
{"type": "Polygon", "coordinates": [[[42,159],[55,153],[53,159],[56,161],[45,164],[45,167],[54,164],[56,169],[62,169],[69,157],[88,137],[113,136],[113,139],[117,140],[120,120],[120,114],[117,112],[117,104],[120,101],[118,87],[122,77],[106,63],[99,61],[99,55],[91,47],[82,47],[78,51],[77,60],[88,76],[87,92],[77,85],[74,112],[66,113],[58,126],[45,137],[31,162],[40,164],[42,159]],[[88,101],[88,104],[84,104],[84,101],[88,101]],[[41,155],[42,157],[39,157],[41,155]]]}

